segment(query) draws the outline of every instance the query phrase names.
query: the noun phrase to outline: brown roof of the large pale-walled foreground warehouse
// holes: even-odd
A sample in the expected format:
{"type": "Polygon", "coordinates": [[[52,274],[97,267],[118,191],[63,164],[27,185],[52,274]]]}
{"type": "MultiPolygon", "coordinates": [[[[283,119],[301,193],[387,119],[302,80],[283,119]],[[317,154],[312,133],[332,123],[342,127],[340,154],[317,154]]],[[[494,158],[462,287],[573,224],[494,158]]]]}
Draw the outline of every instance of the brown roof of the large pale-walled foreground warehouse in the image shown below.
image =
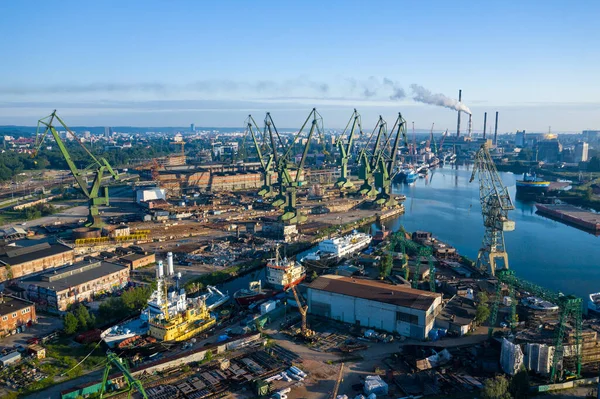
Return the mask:
{"type": "Polygon", "coordinates": [[[419,310],[429,309],[436,298],[441,297],[441,294],[407,286],[334,275],[317,278],[309,288],[419,310]]]}

